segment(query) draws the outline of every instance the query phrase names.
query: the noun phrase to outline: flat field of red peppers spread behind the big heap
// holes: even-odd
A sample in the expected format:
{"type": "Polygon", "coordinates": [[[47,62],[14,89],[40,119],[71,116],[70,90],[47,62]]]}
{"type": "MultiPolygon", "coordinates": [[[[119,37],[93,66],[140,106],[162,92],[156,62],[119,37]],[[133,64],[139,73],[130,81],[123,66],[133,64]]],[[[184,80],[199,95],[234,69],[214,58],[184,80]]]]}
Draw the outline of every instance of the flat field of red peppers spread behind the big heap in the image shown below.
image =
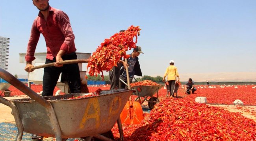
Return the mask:
{"type": "MultiPolygon", "coordinates": [[[[102,90],[108,90],[109,85],[98,85],[98,86],[88,86],[90,92],[95,92],[98,88],[102,90]]],[[[189,101],[195,101],[195,98],[198,96],[206,97],[207,102],[211,104],[225,104],[232,105],[236,99],[240,99],[244,105],[253,105],[256,106],[256,85],[227,85],[227,86],[202,86],[196,85],[197,91],[195,94],[187,95],[185,90],[181,85],[178,90],[178,97],[183,98],[189,101]]],[[[42,85],[31,85],[31,89],[35,92],[42,91],[42,85]]],[[[24,95],[18,89],[13,86],[9,87],[11,90],[11,96],[20,96],[24,95]]],[[[59,90],[57,87],[54,89],[54,93],[59,90]]],[[[159,90],[159,99],[166,98],[167,90],[162,88],[159,90]]]]}

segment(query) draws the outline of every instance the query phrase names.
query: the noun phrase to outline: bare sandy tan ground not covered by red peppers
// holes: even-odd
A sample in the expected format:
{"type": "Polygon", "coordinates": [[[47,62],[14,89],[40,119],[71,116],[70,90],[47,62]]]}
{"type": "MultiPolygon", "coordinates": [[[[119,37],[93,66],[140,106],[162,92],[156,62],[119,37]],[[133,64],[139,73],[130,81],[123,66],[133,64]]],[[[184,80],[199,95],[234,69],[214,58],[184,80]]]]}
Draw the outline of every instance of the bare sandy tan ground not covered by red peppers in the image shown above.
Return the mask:
{"type": "MultiPolygon", "coordinates": [[[[22,96],[10,96],[10,97],[4,97],[6,99],[20,99],[20,98],[28,98],[28,96],[26,95],[22,95],[22,96]]],[[[252,110],[255,111],[256,106],[241,106],[241,107],[245,107],[247,109],[249,109],[250,111],[245,111],[243,110],[243,108],[241,109],[237,109],[237,105],[210,105],[210,106],[215,106],[215,107],[219,107],[219,108],[223,108],[224,110],[228,110],[230,112],[240,112],[243,114],[243,116],[249,118],[249,119],[253,119],[254,121],[256,121],[256,116],[255,114],[253,115],[252,110]]],[[[0,103],[0,113],[1,114],[1,118],[0,118],[0,123],[4,122],[4,123],[15,123],[14,117],[11,114],[11,108],[0,103]]]]}

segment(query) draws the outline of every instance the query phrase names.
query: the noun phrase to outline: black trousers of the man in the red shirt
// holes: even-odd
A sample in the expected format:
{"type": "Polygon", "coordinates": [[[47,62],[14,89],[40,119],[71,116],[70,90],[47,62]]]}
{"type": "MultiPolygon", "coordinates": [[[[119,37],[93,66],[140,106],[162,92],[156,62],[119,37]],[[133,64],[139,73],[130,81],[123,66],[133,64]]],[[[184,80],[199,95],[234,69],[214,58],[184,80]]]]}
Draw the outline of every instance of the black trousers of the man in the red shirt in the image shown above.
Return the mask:
{"type": "MultiPolygon", "coordinates": [[[[77,59],[76,53],[70,53],[62,56],[63,60],[73,60],[77,59]]],[[[56,62],[54,60],[46,59],[45,64],[56,62]]],[[[59,75],[65,75],[65,78],[68,81],[70,93],[80,93],[81,80],[80,80],[80,71],[77,63],[65,64],[63,67],[46,67],[44,69],[43,76],[43,93],[42,96],[52,96],[54,88],[59,79],[59,75]]]]}

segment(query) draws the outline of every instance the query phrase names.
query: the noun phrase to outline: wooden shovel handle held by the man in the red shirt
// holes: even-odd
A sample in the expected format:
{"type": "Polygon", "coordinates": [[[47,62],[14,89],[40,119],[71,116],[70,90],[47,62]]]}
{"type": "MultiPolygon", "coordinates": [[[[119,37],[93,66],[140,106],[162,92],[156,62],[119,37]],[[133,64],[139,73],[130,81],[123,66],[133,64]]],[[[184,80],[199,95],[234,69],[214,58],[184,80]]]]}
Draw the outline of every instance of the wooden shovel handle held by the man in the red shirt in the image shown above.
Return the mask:
{"type": "MultiPolygon", "coordinates": [[[[59,61],[59,65],[71,64],[71,63],[88,63],[88,61],[89,61],[88,59],[65,60],[65,61],[59,61]]],[[[45,68],[45,67],[51,67],[51,66],[54,66],[55,63],[56,62],[39,65],[39,66],[32,67],[31,69],[35,70],[35,69],[41,69],[41,68],[45,68]]]]}

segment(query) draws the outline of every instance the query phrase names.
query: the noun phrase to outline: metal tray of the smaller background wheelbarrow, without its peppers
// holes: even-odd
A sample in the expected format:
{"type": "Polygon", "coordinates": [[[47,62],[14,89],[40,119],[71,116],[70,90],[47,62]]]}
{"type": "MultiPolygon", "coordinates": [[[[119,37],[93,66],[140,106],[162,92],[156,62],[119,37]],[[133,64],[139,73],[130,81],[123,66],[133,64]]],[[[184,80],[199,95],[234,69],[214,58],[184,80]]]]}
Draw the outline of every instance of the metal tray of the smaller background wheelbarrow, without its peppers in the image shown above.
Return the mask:
{"type": "Polygon", "coordinates": [[[143,86],[143,85],[139,85],[139,86],[133,86],[131,89],[136,90],[136,92],[134,93],[134,95],[136,96],[150,96],[152,97],[157,90],[161,89],[162,87],[164,87],[164,85],[159,85],[159,86],[143,86]]]}

